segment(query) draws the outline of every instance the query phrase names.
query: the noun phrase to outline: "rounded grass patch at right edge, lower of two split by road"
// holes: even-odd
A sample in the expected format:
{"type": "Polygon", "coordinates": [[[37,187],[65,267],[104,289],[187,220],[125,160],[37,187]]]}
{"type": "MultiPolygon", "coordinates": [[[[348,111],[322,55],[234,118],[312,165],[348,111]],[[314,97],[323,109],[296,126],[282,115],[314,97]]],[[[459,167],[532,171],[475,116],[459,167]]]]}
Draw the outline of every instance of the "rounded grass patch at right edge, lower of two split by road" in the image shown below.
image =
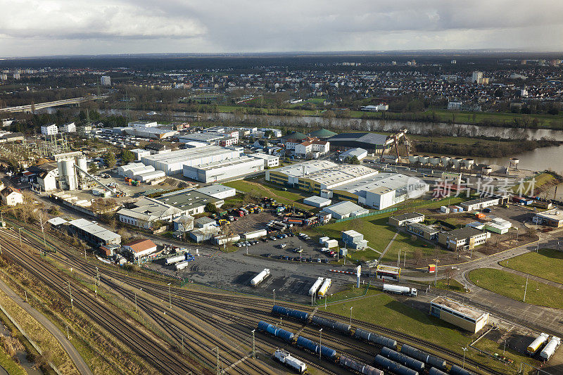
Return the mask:
{"type": "MultiPolygon", "coordinates": [[[[469,272],[469,280],[488,291],[524,302],[526,277],[501,269],[481,268],[469,272]]],[[[529,279],[526,288],[526,303],[562,309],[563,289],[529,279]]]]}

